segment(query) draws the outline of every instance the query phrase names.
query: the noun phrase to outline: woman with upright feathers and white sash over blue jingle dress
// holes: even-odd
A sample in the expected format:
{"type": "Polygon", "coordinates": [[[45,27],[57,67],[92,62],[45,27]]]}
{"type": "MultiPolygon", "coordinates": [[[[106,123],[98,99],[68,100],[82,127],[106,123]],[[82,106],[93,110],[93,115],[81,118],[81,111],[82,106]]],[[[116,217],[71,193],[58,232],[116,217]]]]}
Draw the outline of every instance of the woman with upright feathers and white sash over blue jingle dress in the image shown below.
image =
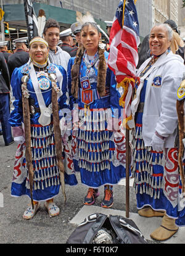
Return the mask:
{"type": "MultiPolygon", "coordinates": [[[[28,137],[24,131],[26,123],[30,122],[30,129],[28,130],[31,130],[31,138],[28,139],[30,139],[30,158],[34,171],[34,208],[29,206],[25,210],[23,218],[27,220],[33,218],[41,201],[46,201],[45,206],[50,217],[59,215],[59,207],[54,204],[54,197],[59,194],[61,181],[57,165],[57,141],[63,144],[65,183],[77,184],[73,165],[67,162],[68,159],[72,162],[72,159],[68,154],[66,139],[64,136],[61,139],[60,130],[58,130],[59,138],[55,138],[54,118],[52,116],[54,106],[57,105],[57,101],[52,101],[52,88],[57,92],[59,109],[68,109],[67,73],[62,66],[49,63],[48,52],[48,44],[43,38],[33,38],[30,41],[30,61],[22,67],[15,68],[11,80],[14,110],[10,114],[9,122],[12,126],[14,141],[19,144],[15,155],[11,188],[11,195],[15,197],[22,195],[30,197],[31,183],[25,158],[25,138],[28,137]],[[55,83],[51,77],[55,79],[55,83]],[[23,119],[22,97],[25,97],[26,94],[29,101],[28,109],[30,108],[27,119],[30,121],[23,119]]],[[[59,126],[59,123],[56,125],[59,126]]]]}

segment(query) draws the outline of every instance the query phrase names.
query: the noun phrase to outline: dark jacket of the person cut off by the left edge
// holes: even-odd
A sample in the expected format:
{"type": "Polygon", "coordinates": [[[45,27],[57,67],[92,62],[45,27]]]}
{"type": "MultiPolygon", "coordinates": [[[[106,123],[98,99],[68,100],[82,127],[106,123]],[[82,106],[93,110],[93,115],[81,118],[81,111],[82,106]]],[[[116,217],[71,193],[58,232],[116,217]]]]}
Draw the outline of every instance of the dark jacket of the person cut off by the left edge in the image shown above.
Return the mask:
{"type": "Polygon", "coordinates": [[[4,55],[0,52],[0,93],[9,93],[10,76],[4,55]]]}

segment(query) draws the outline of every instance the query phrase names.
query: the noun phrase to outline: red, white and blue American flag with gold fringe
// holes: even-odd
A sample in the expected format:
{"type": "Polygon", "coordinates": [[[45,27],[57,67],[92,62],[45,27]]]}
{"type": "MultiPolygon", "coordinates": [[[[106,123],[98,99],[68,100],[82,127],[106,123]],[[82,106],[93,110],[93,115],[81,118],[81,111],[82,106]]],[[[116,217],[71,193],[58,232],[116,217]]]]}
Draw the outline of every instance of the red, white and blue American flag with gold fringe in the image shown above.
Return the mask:
{"type": "Polygon", "coordinates": [[[138,65],[139,22],[136,0],[120,1],[110,31],[108,65],[116,76],[120,105],[124,108],[123,125],[132,128],[131,97],[138,65]],[[130,125],[129,125],[130,123],[130,125]]]}

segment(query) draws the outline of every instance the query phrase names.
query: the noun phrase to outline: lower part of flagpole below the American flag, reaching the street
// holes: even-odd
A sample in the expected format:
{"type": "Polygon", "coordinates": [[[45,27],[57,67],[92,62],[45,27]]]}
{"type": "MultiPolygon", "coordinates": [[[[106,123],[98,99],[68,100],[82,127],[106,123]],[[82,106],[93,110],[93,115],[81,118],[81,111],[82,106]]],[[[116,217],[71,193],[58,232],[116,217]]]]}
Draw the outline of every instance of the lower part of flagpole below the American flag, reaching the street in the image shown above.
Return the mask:
{"type": "Polygon", "coordinates": [[[126,129],[126,218],[129,218],[130,212],[130,143],[129,130],[126,129]]]}

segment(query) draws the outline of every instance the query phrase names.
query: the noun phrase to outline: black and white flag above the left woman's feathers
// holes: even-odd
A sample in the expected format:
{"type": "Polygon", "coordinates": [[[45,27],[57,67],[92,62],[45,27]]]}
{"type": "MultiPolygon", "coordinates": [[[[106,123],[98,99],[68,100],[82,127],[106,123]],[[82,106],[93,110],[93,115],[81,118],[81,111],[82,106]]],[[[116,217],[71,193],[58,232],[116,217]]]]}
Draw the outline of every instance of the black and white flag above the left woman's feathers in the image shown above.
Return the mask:
{"type": "Polygon", "coordinates": [[[30,42],[34,36],[38,36],[38,20],[31,0],[24,0],[24,7],[28,29],[28,42],[30,42]]]}

